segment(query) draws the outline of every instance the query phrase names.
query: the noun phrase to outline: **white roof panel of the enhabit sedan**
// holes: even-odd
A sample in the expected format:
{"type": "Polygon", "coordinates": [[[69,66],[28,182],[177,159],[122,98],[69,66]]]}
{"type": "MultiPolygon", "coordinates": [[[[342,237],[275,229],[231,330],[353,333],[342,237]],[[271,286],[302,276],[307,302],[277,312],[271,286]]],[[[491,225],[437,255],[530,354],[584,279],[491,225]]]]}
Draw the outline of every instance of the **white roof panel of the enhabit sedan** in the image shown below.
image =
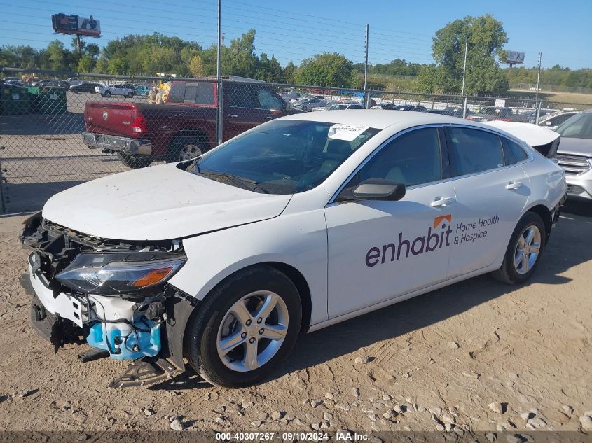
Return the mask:
{"type": "Polygon", "coordinates": [[[461,120],[457,117],[415,111],[390,111],[387,109],[348,109],[347,111],[323,111],[292,114],[282,117],[284,120],[308,120],[313,122],[341,123],[343,125],[367,126],[386,129],[392,125],[413,127],[419,125],[467,125],[491,129],[478,122],[461,120]]]}

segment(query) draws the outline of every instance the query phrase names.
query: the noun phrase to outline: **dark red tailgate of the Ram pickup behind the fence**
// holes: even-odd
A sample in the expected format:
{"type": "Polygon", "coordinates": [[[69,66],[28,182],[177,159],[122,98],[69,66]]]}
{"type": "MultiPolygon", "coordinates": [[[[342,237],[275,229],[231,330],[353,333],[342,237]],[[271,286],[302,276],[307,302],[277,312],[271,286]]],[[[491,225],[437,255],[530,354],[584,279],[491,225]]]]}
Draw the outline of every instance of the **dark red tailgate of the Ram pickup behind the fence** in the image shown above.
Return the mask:
{"type": "Polygon", "coordinates": [[[142,114],[135,104],[110,101],[87,101],[84,107],[84,121],[88,132],[97,134],[138,137],[144,134],[142,114]]]}

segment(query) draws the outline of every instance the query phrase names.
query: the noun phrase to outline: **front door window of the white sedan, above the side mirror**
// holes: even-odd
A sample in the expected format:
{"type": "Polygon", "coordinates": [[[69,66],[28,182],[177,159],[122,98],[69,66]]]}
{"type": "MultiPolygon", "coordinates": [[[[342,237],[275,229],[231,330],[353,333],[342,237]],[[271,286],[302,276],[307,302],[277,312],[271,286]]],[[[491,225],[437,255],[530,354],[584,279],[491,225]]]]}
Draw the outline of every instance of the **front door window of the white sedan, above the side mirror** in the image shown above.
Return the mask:
{"type": "Polygon", "coordinates": [[[442,178],[442,155],[438,129],[417,129],[384,146],[356,174],[353,185],[369,178],[404,183],[406,186],[442,178]]]}

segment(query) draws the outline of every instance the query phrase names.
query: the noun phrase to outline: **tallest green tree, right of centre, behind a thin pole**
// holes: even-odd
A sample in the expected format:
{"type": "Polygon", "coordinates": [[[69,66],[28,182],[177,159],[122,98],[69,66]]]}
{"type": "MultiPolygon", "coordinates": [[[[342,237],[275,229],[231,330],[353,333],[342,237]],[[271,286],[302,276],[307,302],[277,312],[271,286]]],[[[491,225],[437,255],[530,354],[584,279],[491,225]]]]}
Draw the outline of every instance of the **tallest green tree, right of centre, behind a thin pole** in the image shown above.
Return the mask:
{"type": "Polygon", "coordinates": [[[490,94],[508,90],[507,78],[495,61],[496,56],[504,55],[503,46],[508,38],[502,22],[489,14],[454,20],[436,31],[432,43],[436,66],[422,66],[418,74],[420,90],[436,93],[461,91],[467,39],[465,93],[490,94]]]}

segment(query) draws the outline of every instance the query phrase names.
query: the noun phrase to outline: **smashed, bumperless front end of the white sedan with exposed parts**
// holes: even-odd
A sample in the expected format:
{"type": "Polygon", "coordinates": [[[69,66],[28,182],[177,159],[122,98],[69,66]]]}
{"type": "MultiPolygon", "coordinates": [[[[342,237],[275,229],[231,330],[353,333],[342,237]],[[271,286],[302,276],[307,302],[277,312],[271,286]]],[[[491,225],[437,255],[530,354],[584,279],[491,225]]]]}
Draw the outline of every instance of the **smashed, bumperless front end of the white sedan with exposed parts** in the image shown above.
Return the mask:
{"type": "Polygon", "coordinates": [[[25,220],[32,248],[21,283],[33,296],[31,323],[55,351],[88,343],[83,361],[132,360],[111,386],[139,386],[184,370],[183,332],[191,304],[167,281],[184,265],[180,240],[121,241],[69,230],[41,213],[25,220]]]}

